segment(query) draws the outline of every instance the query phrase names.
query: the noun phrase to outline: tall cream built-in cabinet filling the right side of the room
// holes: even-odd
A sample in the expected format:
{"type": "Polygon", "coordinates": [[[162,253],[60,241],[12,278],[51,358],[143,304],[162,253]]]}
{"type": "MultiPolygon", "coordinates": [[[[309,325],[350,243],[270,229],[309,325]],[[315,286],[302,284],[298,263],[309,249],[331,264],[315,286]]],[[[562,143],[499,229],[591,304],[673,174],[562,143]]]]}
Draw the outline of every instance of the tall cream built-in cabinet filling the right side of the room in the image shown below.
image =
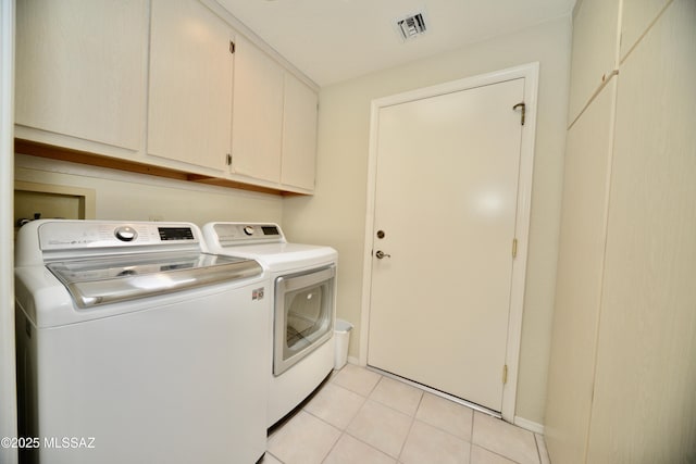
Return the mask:
{"type": "Polygon", "coordinates": [[[696,2],[583,0],[573,53],[614,11],[610,50],[573,58],[546,440],[558,463],[696,462],[696,2]]]}

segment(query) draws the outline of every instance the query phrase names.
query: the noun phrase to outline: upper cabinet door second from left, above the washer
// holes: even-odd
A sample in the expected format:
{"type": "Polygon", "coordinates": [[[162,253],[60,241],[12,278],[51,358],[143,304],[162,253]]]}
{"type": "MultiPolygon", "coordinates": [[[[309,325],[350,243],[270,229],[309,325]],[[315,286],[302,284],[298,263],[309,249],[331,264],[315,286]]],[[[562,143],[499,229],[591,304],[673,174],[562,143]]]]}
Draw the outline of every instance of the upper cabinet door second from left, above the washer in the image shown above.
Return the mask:
{"type": "Polygon", "coordinates": [[[153,0],[148,153],[224,170],[232,29],[195,0],[153,0]]]}

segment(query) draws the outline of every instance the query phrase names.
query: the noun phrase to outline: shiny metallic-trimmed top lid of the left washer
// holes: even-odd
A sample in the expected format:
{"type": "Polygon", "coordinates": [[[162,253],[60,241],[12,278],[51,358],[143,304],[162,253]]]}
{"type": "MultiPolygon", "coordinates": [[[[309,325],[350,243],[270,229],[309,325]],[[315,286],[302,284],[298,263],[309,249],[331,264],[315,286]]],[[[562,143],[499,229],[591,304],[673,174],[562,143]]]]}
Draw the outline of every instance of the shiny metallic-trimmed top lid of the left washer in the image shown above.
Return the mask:
{"type": "Polygon", "coordinates": [[[253,260],[207,253],[145,253],[47,264],[82,309],[260,275],[253,260]]]}

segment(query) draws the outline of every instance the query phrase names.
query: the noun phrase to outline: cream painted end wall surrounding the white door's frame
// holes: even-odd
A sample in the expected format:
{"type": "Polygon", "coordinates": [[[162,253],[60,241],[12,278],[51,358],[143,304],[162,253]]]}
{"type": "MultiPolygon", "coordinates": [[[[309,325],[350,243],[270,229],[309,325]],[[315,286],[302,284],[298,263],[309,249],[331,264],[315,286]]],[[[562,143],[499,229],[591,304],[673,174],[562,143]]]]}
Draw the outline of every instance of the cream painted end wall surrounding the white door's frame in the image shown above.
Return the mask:
{"type": "MultiPolygon", "coordinates": [[[[568,114],[570,17],[334,86],[320,93],[316,189],[288,198],[293,241],[339,253],[337,315],[350,321],[359,356],[370,103],[373,99],[529,62],[540,62],[530,252],[515,415],[544,423],[568,114]]],[[[408,45],[406,45],[408,47],[408,45]]],[[[414,188],[427,188],[423,179],[414,188]]],[[[436,243],[434,243],[436,246],[436,243]]],[[[436,336],[436,335],[435,335],[436,336]]]]}

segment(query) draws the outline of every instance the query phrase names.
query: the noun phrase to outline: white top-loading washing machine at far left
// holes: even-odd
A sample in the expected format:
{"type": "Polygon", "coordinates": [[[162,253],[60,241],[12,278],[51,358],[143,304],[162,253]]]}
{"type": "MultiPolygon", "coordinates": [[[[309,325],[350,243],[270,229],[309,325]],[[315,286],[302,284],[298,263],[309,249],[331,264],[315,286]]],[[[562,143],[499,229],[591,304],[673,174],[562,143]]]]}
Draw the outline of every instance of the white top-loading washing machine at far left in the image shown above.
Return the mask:
{"type": "MultiPolygon", "coordinates": [[[[22,462],[254,463],[269,276],[188,223],[35,221],[16,238],[22,462]]],[[[21,440],[21,441],[20,441],[21,440]]]]}

